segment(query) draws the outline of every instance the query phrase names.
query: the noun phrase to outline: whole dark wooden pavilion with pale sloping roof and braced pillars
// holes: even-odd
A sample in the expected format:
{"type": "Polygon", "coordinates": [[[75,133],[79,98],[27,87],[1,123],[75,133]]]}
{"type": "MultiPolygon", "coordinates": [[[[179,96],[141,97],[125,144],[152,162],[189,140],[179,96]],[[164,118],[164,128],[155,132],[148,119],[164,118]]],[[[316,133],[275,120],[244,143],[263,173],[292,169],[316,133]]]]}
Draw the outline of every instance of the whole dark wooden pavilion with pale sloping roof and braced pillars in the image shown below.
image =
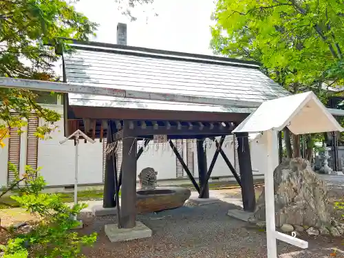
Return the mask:
{"type": "Polygon", "coordinates": [[[288,95],[259,70],[258,63],[96,42],[73,41],[70,46],[72,54],[61,53],[65,83],[122,89],[116,97],[64,94],[65,136],[80,129],[100,141],[106,137],[107,144],[122,141],[120,171],[116,153],[107,159],[103,199],[104,208],[117,207],[120,228],[136,225],[136,162],[143,151],[143,146],[137,149],[137,141],[144,140],[142,145],[147,145],[159,135],[168,140],[199,198],[209,197],[208,180],[222,155],[228,173],[233,173],[241,186],[244,210],[255,209],[248,133],[237,135],[239,175],[222,144],[264,100],[288,95]],[[131,98],[130,91],[142,92],[142,96],[131,98]],[[164,98],[156,100],[144,92],[164,98]],[[182,96],[188,96],[188,103],[182,96]],[[202,98],[213,102],[202,103],[202,98]],[[217,147],[211,164],[206,162],[206,138],[217,147]],[[197,139],[199,182],[175,147],[175,139],[197,139]]]}

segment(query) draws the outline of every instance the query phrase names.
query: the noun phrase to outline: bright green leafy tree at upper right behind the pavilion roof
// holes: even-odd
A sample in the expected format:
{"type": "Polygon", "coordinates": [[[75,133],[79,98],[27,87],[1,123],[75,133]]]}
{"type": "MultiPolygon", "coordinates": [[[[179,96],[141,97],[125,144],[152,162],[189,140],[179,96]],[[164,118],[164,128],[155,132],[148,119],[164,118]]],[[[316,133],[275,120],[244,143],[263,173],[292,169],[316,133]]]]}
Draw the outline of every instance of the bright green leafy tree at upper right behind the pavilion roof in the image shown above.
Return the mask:
{"type": "MultiPolygon", "coordinates": [[[[290,92],[311,89],[325,103],[324,86],[344,84],[343,3],[219,0],[213,17],[215,53],[259,61],[263,72],[290,92]]],[[[284,131],[285,136],[288,133],[284,131]]],[[[313,138],[307,136],[308,149],[313,138]]],[[[292,142],[299,155],[299,138],[293,137],[292,142]]],[[[287,152],[291,155],[291,150],[287,152]]]]}

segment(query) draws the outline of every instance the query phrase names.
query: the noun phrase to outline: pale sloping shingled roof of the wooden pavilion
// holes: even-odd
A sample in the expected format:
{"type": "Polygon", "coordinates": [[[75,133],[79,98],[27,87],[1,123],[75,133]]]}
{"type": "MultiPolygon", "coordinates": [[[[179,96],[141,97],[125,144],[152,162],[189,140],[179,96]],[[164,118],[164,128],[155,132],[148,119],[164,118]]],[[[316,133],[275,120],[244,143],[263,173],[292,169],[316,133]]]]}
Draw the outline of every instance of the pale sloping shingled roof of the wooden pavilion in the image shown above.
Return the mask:
{"type": "Polygon", "coordinates": [[[230,107],[69,94],[71,106],[251,113],[244,101],[288,95],[255,62],[95,42],[71,46],[75,52],[64,55],[68,83],[243,101],[230,107]]]}

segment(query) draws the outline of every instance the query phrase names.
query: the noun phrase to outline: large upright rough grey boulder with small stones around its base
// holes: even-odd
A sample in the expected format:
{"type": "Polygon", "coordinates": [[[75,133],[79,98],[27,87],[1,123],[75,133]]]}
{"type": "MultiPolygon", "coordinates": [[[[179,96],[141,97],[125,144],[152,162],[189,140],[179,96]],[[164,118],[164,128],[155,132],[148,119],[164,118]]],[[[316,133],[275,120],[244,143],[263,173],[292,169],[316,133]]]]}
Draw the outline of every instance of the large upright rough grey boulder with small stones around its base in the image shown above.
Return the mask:
{"type": "MultiPolygon", "coordinates": [[[[293,231],[308,235],[332,235],[344,233],[344,224],[331,218],[327,186],[312,171],[310,162],[302,158],[284,160],[274,171],[276,226],[285,233],[293,231]]],[[[266,220],[265,191],[257,201],[251,223],[266,220]]]]}

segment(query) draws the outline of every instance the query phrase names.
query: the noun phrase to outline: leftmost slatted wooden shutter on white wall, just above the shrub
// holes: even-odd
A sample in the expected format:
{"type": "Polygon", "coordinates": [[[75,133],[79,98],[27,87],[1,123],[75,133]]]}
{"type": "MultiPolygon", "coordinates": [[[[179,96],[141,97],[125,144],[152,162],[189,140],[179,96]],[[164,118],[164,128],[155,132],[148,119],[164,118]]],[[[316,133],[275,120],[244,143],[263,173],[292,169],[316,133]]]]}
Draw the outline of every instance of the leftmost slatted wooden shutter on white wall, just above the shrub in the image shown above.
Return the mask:
{"type": "MultiPolygon", "coordinates": [[[[10,128],[10,138],[8,139],[8,163],[14,164],[19,173],[20,155],[21,155],[21,136],[17,132],[18,127],[10,128]]],[[[11,182],[16,178],[14,171],[10,170],[10,164],[8,164],[8,176],[7,184],[10,186],[11,182]]]]}

